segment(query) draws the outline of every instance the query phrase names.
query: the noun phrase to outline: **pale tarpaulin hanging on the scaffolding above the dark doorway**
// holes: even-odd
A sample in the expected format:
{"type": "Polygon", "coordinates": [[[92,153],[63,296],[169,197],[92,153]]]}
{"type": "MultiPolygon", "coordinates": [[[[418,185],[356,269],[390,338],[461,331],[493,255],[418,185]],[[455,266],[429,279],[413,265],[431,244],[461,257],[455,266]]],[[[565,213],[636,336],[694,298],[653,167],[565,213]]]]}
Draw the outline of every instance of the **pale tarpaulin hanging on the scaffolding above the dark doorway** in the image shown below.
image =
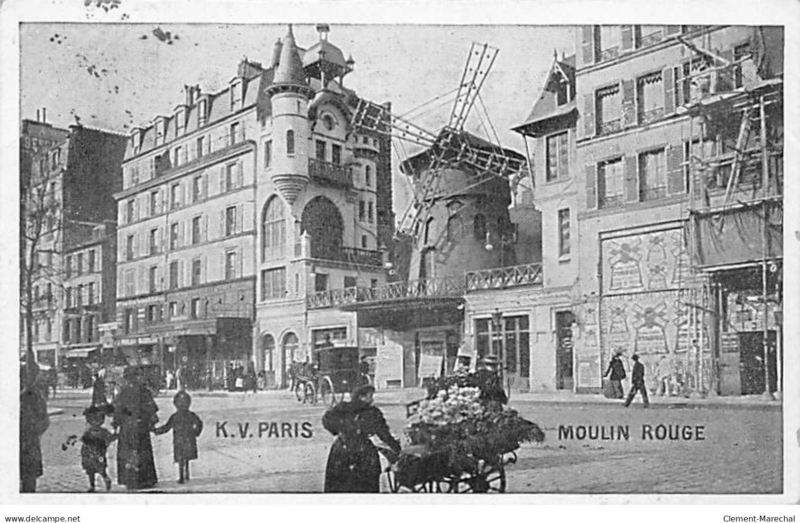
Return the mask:
{"type": "Polygon", "coordinates": [[[702,267],[783,256],[783,205],[780,200],[702,211],[696,213],[695,218],[695,252],[702,267]]]}

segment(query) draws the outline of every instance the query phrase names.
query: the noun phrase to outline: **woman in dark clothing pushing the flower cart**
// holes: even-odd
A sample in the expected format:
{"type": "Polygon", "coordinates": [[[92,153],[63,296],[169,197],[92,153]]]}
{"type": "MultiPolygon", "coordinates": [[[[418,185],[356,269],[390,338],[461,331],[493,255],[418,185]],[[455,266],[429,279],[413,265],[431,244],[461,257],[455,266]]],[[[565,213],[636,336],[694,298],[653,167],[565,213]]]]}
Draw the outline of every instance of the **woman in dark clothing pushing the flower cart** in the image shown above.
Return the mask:
{"type": "Polygon", "coordinates": [[[372,385],[362,385],[353,391],[353,401],[335,405],[322,417],[322,425],[336,436],[325,469],[325,492],[378,492],[381,461],[370,437],[378,436],[400,452],[383,413],[372,405],[374,392],[372,385]]]}

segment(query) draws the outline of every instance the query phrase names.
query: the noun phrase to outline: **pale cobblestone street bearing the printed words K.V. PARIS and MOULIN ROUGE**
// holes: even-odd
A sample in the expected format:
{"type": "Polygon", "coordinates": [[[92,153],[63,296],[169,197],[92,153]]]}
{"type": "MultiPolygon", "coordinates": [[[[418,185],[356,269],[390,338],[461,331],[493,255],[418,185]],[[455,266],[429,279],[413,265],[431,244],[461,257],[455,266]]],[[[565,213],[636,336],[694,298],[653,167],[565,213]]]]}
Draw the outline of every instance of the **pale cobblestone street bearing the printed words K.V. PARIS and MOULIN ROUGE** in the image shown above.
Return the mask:
{"type": "MultiPolygon", "coordinates": [[[[81,409],[86,399],[73,393],[50,401],[51,407],[63,412],[52,417],[42,439],[45,475],[39,481],[39,492],[86,492],[80,443],[62,450],[67,437],[82,433],[81,409]]],[[[162,421],[173,411],[170,400],[166,395],[157,399],[162,421]]],[[[401,434],[404,405],[387,403],[381,397],[377,403],[393,433],[401,434]]],[[[542,445],[523,446],[518,461],[506,468],[507,490],[512,493],[780,493],[782,489],[779,409],[766,405],[750,409],[653,405],[642,409],[637,404],[623,409],[614,403],[556,404],[526,401],[525,397],[512,400],[512,405],[541,425],[547,435],[542,445]],[[669,425],[691,428],[683,433],[673,430],[673,436],[680,438],[698,436],[697,426],[702,426],[699,434],[703,439],[670,441],[669,425]],[[606,427],[603,432],[594,431],[602,426],[606,427]],[[650,427],[644,440],[643,426],[650,427]],[[617,427],[628,427],[630,439],[589,439],[621,437],[617,427]],[[582,435],[584,439],[578,439],[582,435]]],[[[321,491],[333,441],[322,429],[321,406],[299,405],[286,391],[274,391],[247,396],[196,394],[193,409],[206,427],[198,440],[199,459],[191,464],[192,479],[184,485],[176,481],[171,435],[153,437],[159,477],[154,492],[321,491]],[[310,437],[303,437],[304,422],[310,423],[306,431],[310,437]]],[[[115,444],[109,450],[109,464],[115,481],[115,444]]],[[[386,491],[385,477],[382,483],[386,491]]],[[[112,492],[125,489],[114,484],[112,492]]]]}

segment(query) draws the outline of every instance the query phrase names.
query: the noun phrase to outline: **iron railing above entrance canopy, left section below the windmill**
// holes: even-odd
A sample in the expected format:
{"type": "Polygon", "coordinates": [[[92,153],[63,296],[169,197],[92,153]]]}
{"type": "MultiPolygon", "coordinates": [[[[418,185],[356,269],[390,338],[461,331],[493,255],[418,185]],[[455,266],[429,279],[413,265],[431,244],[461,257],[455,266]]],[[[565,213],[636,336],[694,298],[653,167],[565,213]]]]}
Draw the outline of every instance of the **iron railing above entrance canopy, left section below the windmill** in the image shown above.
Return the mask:
{"type": "Polygon", "coordinates": [[[395,281],[379,287],[323,290],[307,296],[306,306],[309,309],[324,309],[353,303],[462,297],[465,290],[464,280],[460,277],[433,277],[421,280],[395,281]]]}

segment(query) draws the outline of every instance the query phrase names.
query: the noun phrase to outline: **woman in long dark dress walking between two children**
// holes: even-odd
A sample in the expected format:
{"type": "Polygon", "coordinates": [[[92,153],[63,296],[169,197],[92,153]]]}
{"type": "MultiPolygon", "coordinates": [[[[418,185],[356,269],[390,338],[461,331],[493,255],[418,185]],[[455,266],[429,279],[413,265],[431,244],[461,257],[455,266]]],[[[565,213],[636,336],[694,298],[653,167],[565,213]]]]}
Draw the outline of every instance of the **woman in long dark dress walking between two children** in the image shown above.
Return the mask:
{"type": "Polygon", "coordinates": [[[158,483],[150,431],[158,423],[158,407],[134,367],[123,375],[126,386],[114,400],[114,427],[119,427],[117,482],[128,489],[147,489],[158,483]]]}

